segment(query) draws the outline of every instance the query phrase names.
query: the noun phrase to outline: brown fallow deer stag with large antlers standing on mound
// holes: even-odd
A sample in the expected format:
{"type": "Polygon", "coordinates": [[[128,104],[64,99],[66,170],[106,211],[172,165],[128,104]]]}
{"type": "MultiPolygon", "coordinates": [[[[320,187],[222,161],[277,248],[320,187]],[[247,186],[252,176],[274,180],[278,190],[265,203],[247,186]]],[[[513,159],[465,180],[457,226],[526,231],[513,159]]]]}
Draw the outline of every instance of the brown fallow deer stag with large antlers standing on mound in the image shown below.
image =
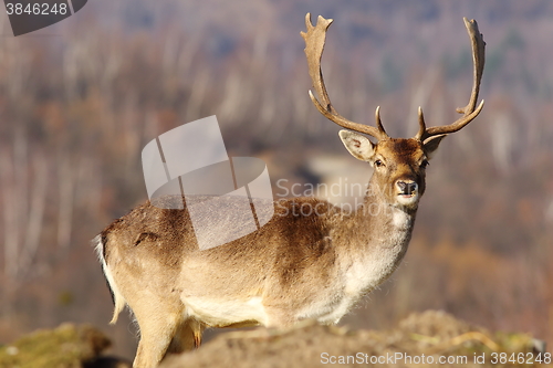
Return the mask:
{"type": "Polygon", "coordinates": [[[478,116],[484,42],[476,21],[465,19],[473,56],[473,86],[462,116],[427,128],[419,107],[413,138],[390,138],[376,108],[376,127],[353,123],[332,106],[321,73],[331,19],[315,27],[305,17],[305,54],[319,112],[337,125],[357,159],[374,167],[364,203],[352,213],[314,198],[279,201],[258,231],[225,245],[199,250],[186,210],[146,202],[114,221],[94,243],[114,296],[112,323],[125,305],[140,340],[135,368],[159,364],[167,351],[200,344],[207,327],[286,327],[311,318],[337,323],[359,298],[398,266],[411,238],[425,192],[425,169],[444,137],[478,116]],[[363,133],[375,138],[372,143],[363,133]],[[298,215],[294,208],[316,208],[298,215]]]}

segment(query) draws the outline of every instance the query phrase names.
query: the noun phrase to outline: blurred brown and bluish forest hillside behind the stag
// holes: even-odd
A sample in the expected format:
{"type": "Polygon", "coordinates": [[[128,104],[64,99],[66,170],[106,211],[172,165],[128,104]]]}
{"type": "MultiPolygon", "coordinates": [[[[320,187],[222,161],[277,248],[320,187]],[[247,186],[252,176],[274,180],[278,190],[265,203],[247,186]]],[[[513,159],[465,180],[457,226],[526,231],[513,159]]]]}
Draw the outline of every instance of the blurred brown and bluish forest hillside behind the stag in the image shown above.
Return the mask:
{"type": "MultiPolygon", "coordinates": [[[[3,8],[2,8],[3,9],[3,8]]],[[[91,322],[132,357],[90,245],[147,199],[140,150],[217,115],[231,156],[273,182],[366,182],[307,96],[304,15],[333,18],[323,70],[342,115],[393,136],[452,123],[472,84],[462,17],[488,43],[486,106],[428,169],[404,264],[343,324],[442,308],[553,344],[553,2],[95,0],[13,38],[0,15],[0,344],[91,322]]],[[[275,196],[282,188],[274,187],[275,196]]],[[[280,191],[280,192],[279,192],[280,191]]]]}

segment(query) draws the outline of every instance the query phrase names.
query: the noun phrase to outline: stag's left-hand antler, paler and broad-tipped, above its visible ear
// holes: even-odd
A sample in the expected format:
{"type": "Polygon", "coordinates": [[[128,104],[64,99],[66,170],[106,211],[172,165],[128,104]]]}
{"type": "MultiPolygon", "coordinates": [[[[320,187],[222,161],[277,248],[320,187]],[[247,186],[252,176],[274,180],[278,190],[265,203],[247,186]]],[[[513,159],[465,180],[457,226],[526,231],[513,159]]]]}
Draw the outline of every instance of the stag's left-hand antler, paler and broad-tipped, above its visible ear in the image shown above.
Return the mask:
{"type": "MultiPolygon", "coordinates": [[[[334,122],[344,128],[367,134],[378,140],[385,139],[388,137],[388,135],[384,130],[382,123],[379,123],[378,115],[378,128],[376,128],[346,119],[345,117],[340,115],[331,104],[331,99],[328,98],[328,94],[324,85],[323,73],[321,71],[321,57],[323,55],[326,30],[331,25],[332,21],[332,19],[324,19],[323,17],[319,15],[316,25],[313,25],[311,23],[311,13],[307,13],[305,15],[305,27],[307,29],[307,32],[301,32],[302,38],[305,40],[304,51],[305,56],[307,57],[309,73],[313,83],[313,88],[321,99],[320,102],[315,96],[313,96],[313,93],[310,91],[311,101],[319,109],[319,112],[331,122],[334,122]]],[[[376,114],[378,114],[378,109],[376,114]]]]}

